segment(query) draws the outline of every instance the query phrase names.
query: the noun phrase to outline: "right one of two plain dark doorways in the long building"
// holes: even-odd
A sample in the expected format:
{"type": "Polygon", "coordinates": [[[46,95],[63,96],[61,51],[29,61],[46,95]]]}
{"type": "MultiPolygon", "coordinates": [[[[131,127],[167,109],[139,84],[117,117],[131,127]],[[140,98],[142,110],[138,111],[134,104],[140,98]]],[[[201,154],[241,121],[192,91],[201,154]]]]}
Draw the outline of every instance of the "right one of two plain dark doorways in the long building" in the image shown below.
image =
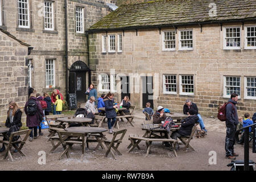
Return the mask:
{"type": "Polygon", "coordinates": [[[150,107],[154,109],[153,102],[153,77],[142,76],[142,104],[143,108],[146,107],[146,103],[150,102],[150,107]]]}

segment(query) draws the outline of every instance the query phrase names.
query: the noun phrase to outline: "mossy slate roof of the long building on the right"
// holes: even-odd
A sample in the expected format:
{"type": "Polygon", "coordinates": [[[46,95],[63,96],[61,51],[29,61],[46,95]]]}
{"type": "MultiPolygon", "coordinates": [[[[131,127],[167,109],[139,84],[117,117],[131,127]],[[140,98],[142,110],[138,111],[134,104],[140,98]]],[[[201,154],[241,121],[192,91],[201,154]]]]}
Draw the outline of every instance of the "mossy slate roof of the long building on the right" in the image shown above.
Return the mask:
{"type": "Polygon", "coordinates": [[[256,0],[159,0],[121,5],[93,24],[89,31],[170,27],[255,18],[256,0]],[[216,4],[215,17],[209,16],[209,10],[212,9],[210,3],[216,4]]]}

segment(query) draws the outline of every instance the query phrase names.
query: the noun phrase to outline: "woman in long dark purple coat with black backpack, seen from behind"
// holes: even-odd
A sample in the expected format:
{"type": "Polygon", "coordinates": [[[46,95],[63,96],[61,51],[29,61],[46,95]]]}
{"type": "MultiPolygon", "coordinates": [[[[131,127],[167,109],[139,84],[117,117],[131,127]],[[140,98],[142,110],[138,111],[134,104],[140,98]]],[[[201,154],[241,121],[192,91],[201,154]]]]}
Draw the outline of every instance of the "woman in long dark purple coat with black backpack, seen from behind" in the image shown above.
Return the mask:
{"type": "Polygon", "coordinates": [[[27,114],[27,127],[31,130],[30,142],[33,140],[33,130],[34,139],[38,136],[38,126],[40,124],[40,117],[44,117],[42,106],[36,98],[35,93],[30,94],[30,99],[26,102],[24,107],[25,113],[27,114]]]}

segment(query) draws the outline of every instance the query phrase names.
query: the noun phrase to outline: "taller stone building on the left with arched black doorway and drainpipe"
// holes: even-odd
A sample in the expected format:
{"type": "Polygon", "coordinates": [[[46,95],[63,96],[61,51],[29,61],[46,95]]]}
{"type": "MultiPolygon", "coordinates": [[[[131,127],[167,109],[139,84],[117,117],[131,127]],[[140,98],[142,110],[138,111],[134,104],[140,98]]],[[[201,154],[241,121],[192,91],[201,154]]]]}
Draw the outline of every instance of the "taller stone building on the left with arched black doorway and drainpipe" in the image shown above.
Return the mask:
{"type": "MultiPolygon", "coordinates": [[[[111,4],[112,2],[110,0],[0,0],[1,30],[8,31],[16,39],[30,44],[31,50],[30,55],[27,56],[26,68],[25,65],[22,65],[22,69],[25,69],[25,71],[22,70],[23,75],[20,75],[19,72],[12,73],[13,75],[18,74],[15,79],[18,79],[20,85],[15,82],[15,90],[11,93],[7,89],[5,92],[1,92],[5,94],[5,97],[1,97],[0,117],[6,115],[7,97],[10,99],[14,97],[18,100],[16,98],[18,89],[25,85],[27,88],[24,90],[24,93],[26,92],[24,96],[27,96],[28,86],[35,88],[40,94],[52,92],[57,88],[63,93],[65,100],[67,93],[71,90],[73,93],[76,92],[79,101],[85,101],[84,92],[90,82],[91,68],[85,31],[112,11],[106,3],[111,4]],[[67,6],[65,6],[65,2],[67,2],[67,6]],[[66,10],[67,28],[65,24],[66,10]],[[69,77],[70,75],[71,77],[69,77]],[[24,77],[26,83],[23,83],[24,77]],[[77,86],[77,82],[80,84],[79,86],[77,86]],[[69,88],[69,85],[72,88],[69,88]]],[[[9,48],[5,45],[5,43],[0,45],[0,51],[9,48]]],[[[1,71],[1,74],[6,76],[6,74],[11,74],[12,70],[14,71],[14,68],[11,67],[23,63],[14,63],[13,58],[9,60],[7,58],[9,55],[3,55],[4,53],[6,52],[2,52],[1,55],[3,59],[10,61],[8,73],[1,71]]],[[[15,58],[15,61],[19,61],[18,57],[15,58]]],[[[3,68],[1,67],[1,69],[3,68]]],[[[0,83],[5,84],[4,78],[1,79],[0,83]]],[[[18,100],[20,106],[24,106],[24,100],[23,97],[20,97],[18,100]]]]}

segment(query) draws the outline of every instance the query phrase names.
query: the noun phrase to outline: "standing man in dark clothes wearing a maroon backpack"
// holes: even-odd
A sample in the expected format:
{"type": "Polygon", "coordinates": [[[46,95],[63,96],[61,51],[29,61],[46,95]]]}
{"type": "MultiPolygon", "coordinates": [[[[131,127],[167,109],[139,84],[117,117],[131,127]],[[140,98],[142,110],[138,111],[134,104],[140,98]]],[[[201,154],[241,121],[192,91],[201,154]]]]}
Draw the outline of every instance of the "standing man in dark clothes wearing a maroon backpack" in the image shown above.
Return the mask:
{"type": "Polygon", "coordinates": [[[230,160],[235,160],[236,154],[234,152],[234,143],[235,138],[234,134],[237,130],[237,125],[239,123],[238,121],[238,115],[237,115],[237,104],[238,101],[238,95],[236,93],[232,93],[230,96],[230,100],[226,105],[226,140],[225,140],[225,150],[226,150],[226,158],[230,160]]]}

